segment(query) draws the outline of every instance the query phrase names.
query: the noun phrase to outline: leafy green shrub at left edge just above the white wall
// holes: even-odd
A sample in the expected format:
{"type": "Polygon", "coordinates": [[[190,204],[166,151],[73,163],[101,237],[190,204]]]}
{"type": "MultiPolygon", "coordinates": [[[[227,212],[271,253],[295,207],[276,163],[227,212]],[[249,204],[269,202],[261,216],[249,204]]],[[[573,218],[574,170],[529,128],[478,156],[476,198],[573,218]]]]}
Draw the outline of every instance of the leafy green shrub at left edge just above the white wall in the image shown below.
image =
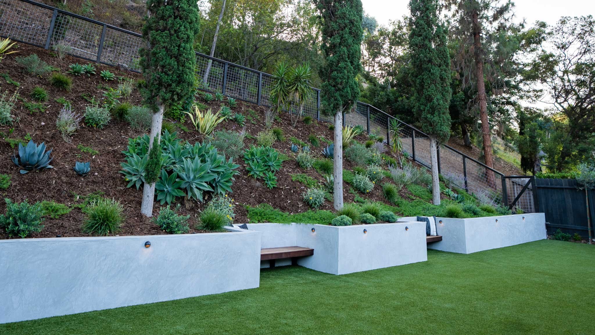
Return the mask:
{"type": "Polygon", "coordinates": [[[30,233],[40,232],[43,228],[43,210],[40,203],[29,204],[27,200],[22,203],[12,203],[5,198],[6,212],[0,214],[0,227],[3,227],[8,236],[26,238],[30,233]]]}

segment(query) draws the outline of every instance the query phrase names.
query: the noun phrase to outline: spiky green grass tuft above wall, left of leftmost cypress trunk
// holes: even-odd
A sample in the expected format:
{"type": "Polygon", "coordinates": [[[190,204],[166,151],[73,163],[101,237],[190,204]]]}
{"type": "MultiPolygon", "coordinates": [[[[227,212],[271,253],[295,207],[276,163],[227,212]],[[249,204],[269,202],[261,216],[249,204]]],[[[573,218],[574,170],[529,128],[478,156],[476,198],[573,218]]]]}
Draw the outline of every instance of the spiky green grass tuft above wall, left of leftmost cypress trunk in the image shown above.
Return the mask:
{"type": "Polygon", "coordinates": [[[107,236],[120,230],[124,221],[124,207],[114,199],[99,198],[83,208],[87,218],[83,222],[83,232],[107,236]]]}

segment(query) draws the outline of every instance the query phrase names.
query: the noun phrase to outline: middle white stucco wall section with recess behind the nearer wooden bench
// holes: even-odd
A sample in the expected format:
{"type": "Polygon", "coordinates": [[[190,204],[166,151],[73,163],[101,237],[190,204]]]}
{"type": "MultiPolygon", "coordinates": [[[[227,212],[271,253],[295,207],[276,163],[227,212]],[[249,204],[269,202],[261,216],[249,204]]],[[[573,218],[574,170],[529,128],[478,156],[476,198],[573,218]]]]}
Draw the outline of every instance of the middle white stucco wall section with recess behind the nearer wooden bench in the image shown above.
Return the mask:
{"type": "Polygon", "coordinates": [[[347,274],[427,260],[425,223],[421,222],[342,227],[251,223],[248,229],[262,232],[262,248],[313,248],[314,255],[299,258],[297,264],[325,273],[347,274]]]}

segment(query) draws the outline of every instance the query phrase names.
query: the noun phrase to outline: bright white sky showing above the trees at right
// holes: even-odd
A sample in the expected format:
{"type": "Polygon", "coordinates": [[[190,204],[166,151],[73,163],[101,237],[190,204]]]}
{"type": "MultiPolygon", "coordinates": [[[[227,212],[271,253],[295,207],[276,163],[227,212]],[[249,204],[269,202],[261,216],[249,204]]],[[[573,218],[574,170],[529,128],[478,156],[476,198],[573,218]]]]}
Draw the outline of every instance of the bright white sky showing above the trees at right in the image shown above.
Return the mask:
{"type": "MultiPolygon", "coordinates": [[[[515,16],[518,21],[523,18],[527,23],[546,21],[555,24],[561,16],[580,16],[595,14],[593,0],[516,0],[515,16]]],[[[408,0],[362,0],[364,11],[386,26],[389,20],[409,15],[408,0]]]]}

